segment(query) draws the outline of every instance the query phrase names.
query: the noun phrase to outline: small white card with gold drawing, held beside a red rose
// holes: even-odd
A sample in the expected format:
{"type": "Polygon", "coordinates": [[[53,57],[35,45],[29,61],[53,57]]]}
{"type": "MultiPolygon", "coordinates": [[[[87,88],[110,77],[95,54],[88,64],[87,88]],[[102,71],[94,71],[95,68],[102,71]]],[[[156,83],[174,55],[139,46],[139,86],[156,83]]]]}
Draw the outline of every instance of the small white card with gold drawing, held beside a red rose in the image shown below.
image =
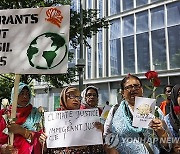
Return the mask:
{"type": "Polygon", "coordinates": [[[135,97],[133,123],[134,127],[149,128],[150,121],[155,117],[156,99],[135,97]]]}

